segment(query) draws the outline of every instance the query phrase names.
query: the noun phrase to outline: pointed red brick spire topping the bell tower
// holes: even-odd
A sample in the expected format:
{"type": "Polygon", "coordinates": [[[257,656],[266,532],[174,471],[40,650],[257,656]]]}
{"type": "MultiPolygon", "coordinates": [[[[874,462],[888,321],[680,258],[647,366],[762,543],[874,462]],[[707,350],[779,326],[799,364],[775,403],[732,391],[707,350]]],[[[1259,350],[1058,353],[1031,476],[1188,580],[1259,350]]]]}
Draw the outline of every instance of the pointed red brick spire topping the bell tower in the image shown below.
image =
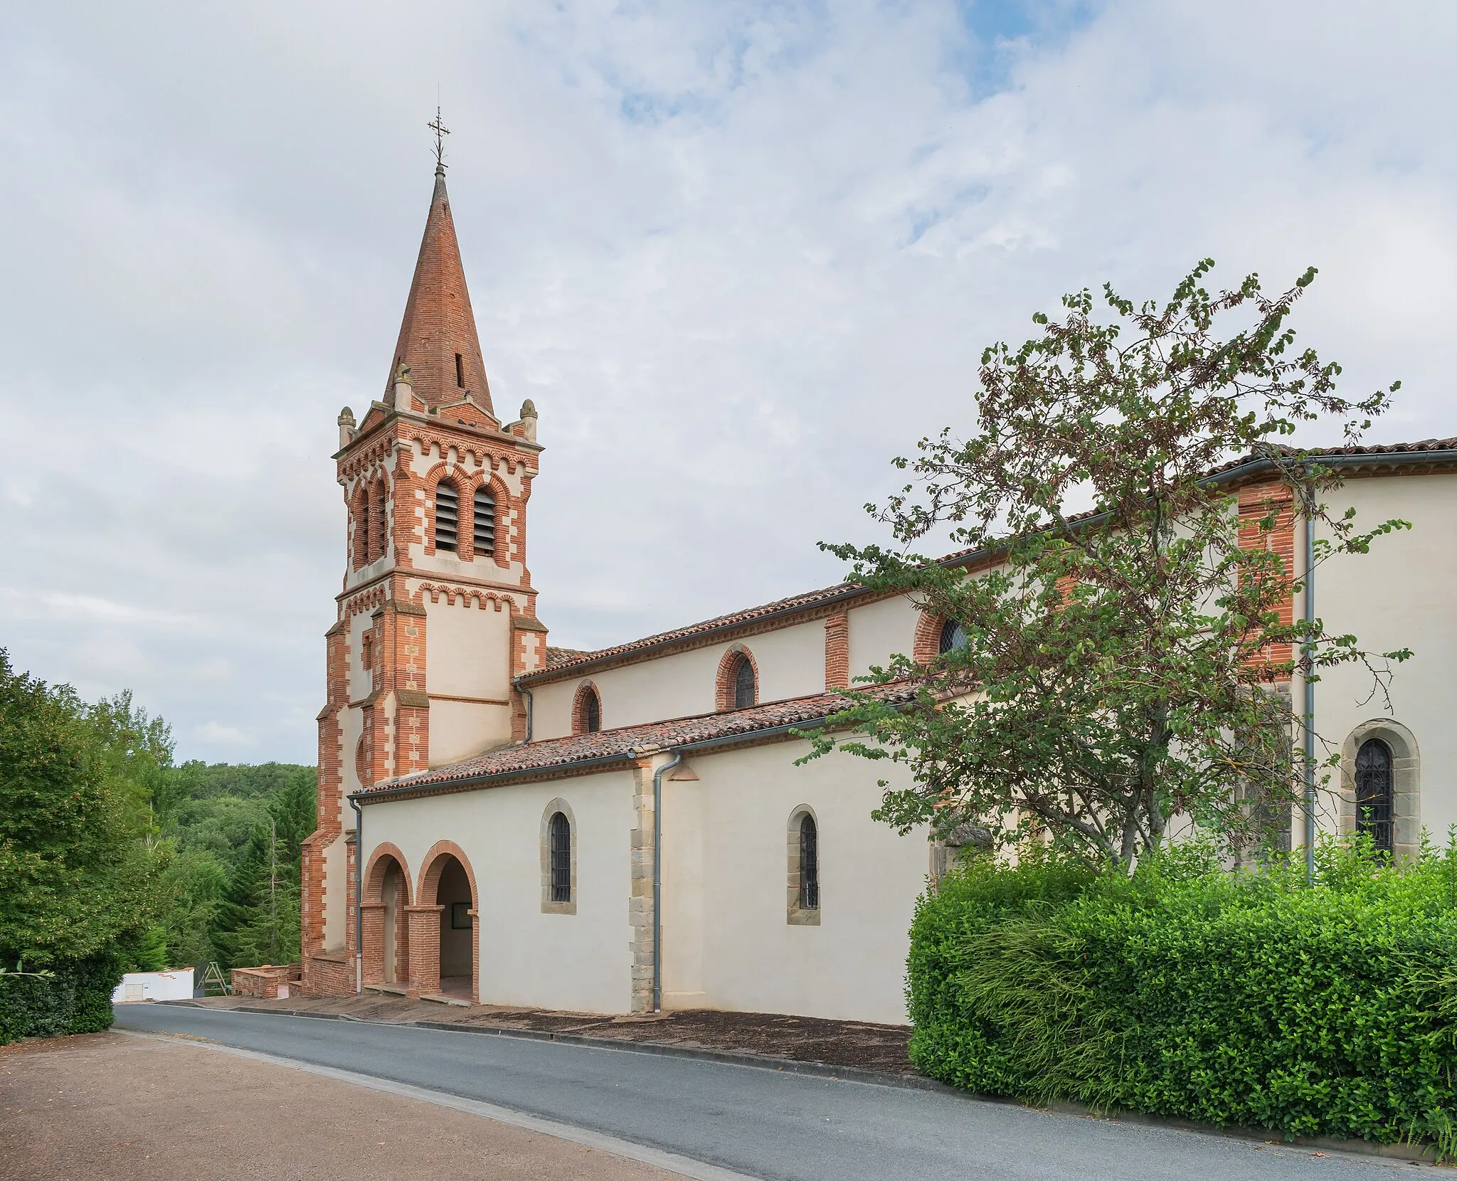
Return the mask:
{"type": "Polygon", "coordinates": [[[491,387],[475,335],[471,293],[465,285],[460,246],[456,243],[444,165],[436,165],[436,191],[430,198],[425,236],[409,284],[405,319],[399,325],[395,361],[386,382],[386,400],[401,363],[409,366],[415,396],[439,406],[471,393],[491,414],[491,387]]]}

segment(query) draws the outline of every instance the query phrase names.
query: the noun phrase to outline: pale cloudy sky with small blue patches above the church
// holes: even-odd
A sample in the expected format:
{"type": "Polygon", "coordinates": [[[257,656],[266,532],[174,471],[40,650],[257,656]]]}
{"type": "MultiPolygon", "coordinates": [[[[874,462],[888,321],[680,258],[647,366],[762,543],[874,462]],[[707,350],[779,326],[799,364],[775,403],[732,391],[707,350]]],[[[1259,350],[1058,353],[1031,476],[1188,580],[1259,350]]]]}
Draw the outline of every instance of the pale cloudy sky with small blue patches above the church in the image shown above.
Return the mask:
{"type": "Polygon", "coordinates": [[[554,642],[825,585],[1061,293],[1321,275],[1374,438],[1457,434],[1457,7],[0,7],[0,647],[179,756],[312,762],[334,419],[383,389],[437,93],[554,642]]]}

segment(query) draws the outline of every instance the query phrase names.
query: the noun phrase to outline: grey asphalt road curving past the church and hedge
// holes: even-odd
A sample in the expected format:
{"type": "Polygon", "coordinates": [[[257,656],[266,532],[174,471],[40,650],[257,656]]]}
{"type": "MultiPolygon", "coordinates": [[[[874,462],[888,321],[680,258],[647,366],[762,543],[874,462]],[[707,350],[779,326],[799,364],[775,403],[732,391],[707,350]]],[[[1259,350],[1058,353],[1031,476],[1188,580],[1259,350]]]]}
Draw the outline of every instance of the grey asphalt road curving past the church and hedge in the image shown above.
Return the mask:
{"type": "Polygon", "coordinates": [[[119,1006],[117,1028],[204,1037],[479,1099],[766,1181],[1348,1181],[1418,1168],[953,1094],[510,1037],[173,1005],[119,1006]]]}

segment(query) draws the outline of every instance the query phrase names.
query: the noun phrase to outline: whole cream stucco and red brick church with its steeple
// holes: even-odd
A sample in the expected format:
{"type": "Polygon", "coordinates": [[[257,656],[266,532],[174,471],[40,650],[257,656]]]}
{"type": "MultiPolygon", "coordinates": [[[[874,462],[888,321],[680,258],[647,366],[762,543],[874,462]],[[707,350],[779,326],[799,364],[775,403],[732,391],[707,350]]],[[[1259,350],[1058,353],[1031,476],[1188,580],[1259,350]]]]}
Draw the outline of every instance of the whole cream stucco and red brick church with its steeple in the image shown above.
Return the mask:
{"type": "MultiPolygon", "coordinates": [[[[903,1022],[912,912],[951,850],[870,818],[879,781],[908,772],[796,766],[793,731],[892,652],[934,657],[954,625],[841,584],[552,647],[526,561],[538,414],[503,422],[492,403],[440,165],[382,398],[338,427],[348,532],[305,992],[903,1022]]],[[[1316,686],[1316,730],[1342,753],[1319,823],[1352,832],[1359,797],[1359,823],[1409,856],[1457,823],[1457,440],[1323,456],[1361,520],[1413,529],[1323,565],[1316,613],[1415,658],[1390,706],[1358,670],[1316,686]]],[[[1252,511],[1282,495],[1259,462],[1224,479],[1252,511]]],[[[1284,501],[1275,545],[1303,574],[1305,521],[1284,501]]],[[[943,561],[975,574],[997,555],[943,561]]]]}

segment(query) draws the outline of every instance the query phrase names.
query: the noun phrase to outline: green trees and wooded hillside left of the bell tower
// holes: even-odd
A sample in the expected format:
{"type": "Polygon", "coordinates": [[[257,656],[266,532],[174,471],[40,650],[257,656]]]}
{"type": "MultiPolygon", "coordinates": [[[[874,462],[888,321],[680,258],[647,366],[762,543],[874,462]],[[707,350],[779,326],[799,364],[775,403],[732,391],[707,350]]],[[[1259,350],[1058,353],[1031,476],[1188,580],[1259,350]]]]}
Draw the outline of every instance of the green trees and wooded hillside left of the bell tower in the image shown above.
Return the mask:
{"type": "Polygon", "coordinates": [[[0,973],[296,961],[315,791],[306,766],[179,765],[130,692],[87,703],[0,649],[0,973]]]}

